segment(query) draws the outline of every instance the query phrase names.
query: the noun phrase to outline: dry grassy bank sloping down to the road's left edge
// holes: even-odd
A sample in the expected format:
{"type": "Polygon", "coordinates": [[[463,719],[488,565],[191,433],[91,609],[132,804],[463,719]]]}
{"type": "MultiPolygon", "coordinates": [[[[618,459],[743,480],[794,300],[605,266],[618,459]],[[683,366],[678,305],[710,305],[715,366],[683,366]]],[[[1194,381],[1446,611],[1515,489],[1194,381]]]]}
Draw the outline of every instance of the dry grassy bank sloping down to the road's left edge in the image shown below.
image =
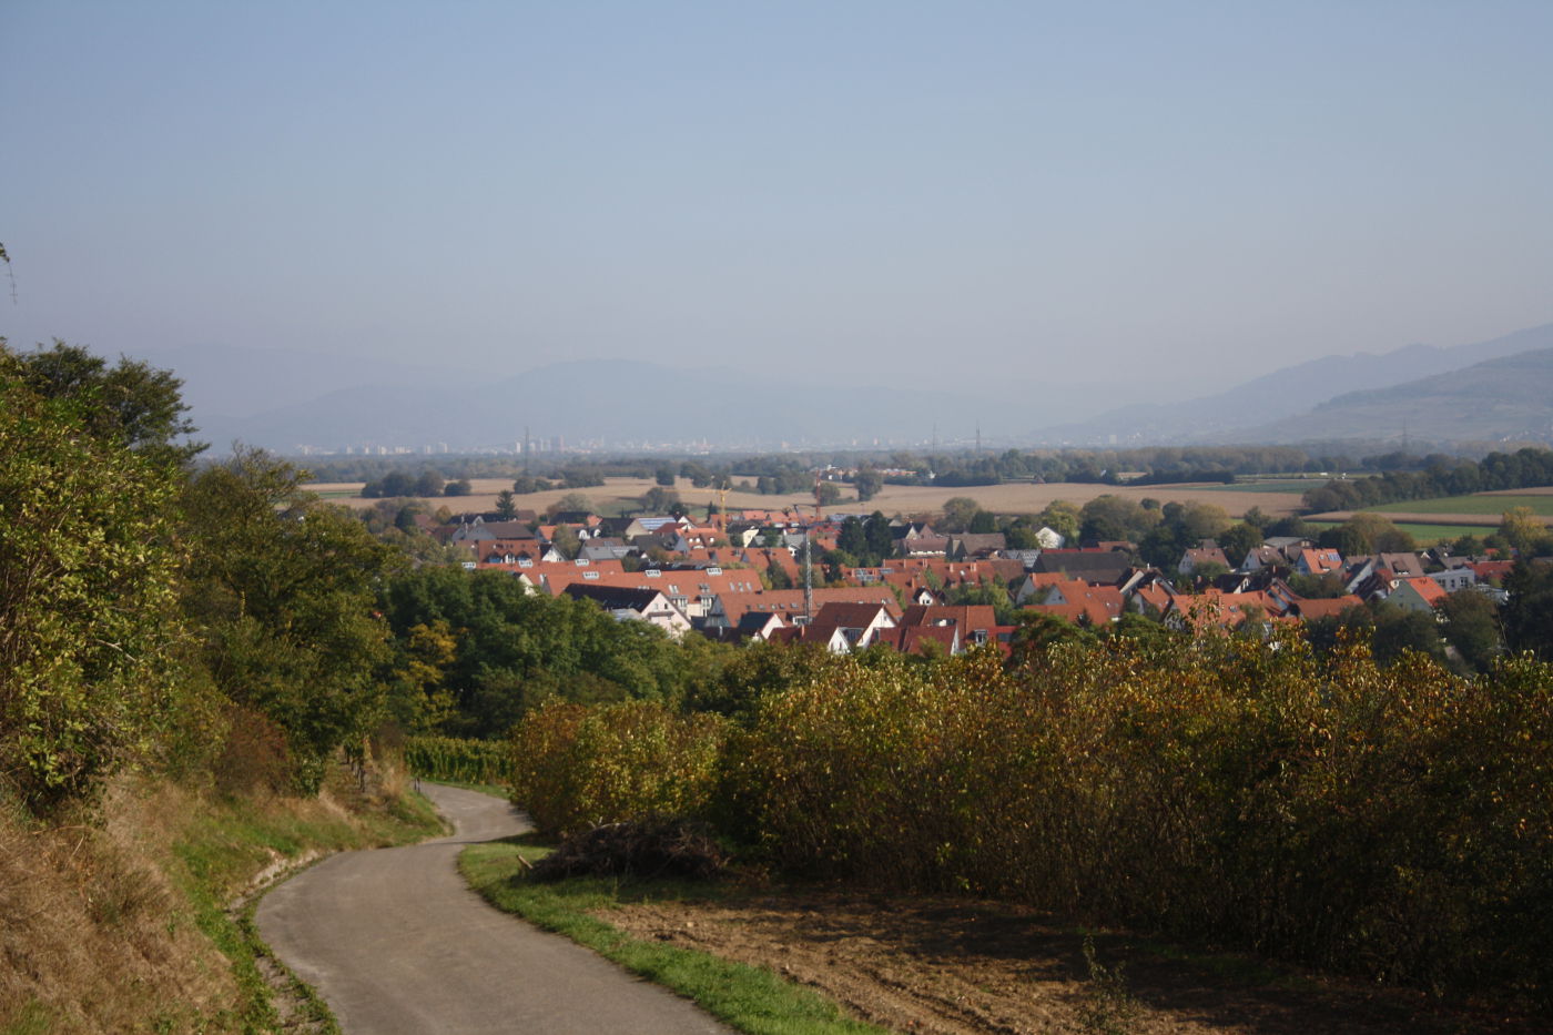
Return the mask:
{"type": "Polygon", "coordinates": [[[318,853],[435,830],[393,805],[401,768],[371,775],[362,794],[339,766],[306,800],[124,777],[51,827],[0,799],[0,1032],[270,1030],[228,906],[318,853]]]}

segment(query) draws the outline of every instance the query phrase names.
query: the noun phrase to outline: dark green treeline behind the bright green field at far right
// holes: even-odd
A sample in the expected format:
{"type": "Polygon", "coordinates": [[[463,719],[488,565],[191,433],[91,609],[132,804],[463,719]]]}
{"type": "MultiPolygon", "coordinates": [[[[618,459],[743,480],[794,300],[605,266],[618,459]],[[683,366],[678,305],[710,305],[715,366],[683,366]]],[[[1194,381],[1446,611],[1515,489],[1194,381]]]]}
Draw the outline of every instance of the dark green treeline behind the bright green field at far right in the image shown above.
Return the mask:
{"type": "Polygon", "coordinates": [[[1385,471],[1364,479],[1332,479],[1308,491],[1305,508],[1311,513],[1362,510],[1409,499],[1438,499],[1499,490],[1553,485],[1553,449],[1525,448],[1491,452],[1478,462],[1446,462],[1433,457],[1421,471],[1385,471]]]}

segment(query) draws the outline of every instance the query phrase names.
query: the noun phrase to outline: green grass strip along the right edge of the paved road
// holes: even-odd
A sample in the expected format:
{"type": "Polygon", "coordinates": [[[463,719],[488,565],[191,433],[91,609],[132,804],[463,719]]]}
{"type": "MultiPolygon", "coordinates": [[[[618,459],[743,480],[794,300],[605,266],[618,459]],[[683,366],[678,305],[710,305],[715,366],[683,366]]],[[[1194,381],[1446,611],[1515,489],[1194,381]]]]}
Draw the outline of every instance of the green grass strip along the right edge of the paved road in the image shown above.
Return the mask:
{"type": "Polygon", "coordinates": [[[769,970],[733,964],[658,942],[631,937],[589,915],[649,897],[714,894],[705,884],[572,878],[537,883],[523,878],[519,858],[537,859],[548,849],[531,838],[472,845],[460,856],[471,887],[499,909],[567,936],[626,970],[693,999],[704,1010],[752,1035],[863,1035],[884,1029],[848,1018],[834,1002],[792,985],[769,970]]]}

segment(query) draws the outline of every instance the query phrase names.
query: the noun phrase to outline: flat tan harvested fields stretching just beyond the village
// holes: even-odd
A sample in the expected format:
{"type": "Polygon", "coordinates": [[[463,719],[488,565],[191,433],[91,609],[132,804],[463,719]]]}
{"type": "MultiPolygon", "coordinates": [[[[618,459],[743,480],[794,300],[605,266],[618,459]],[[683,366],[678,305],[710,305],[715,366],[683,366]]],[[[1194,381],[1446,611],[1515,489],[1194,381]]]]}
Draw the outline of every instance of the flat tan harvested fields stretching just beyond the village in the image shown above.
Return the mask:
{"type": "MultiPolygon", "coordinates": [[[[589,490],[575,490],[582,496],[587,496],[595,507],[604,508],[612,513],[623,500],[627,500],[627,507],[635,507],[637,499],[651,490],[655,483],[651,479],[609,479],[606,485],[589,490]]],[[[309,490],[325,496],[331,502],[342,504],[345,507],[363,508],[371,507],[377,500],[362,499],[356,493],[362,491],[360,482],[318,482],[307,486],[309,490]]],[[[471,483],[474,494],[471,496],[453,496],[453,497],[432,497],[427,504],[433,507],[446,505],[452,511],[477,511],[477,510],[492,510],[495,507],[495,496],[502,490],[512,488],[509,479],[475,479],[471,483]]],[[[713,490],[694,488],[690,480],[680,479],[674,486],[680,499],[685,500],[694,511],[705,513],[702,508],[707,504],[716,502],[717,494],[713,490]]],[[[519,508],[544,511],[547,507],[554,504],[558,499],[565,496],[570,490],[550,490],[548,493],[531,493],[528,496],[516,497],[519,508]]],[[[971,488],[929,488],[916,485],[887,485],[884,491],[867,504],[859,504],[851,486],[842,486],[842,502],[832,510],[848,513],[848,511],[874,511],[881,510],[885,514],[932,514],[938,513],[944,507],[944,500],[954,496],[969,496],[977,500],[986,510],[1000,514],[1034,514],[1047,508],[1053,500],[1068,500],[1070,504],[1082,505],[1096,496],[1104,496],[1112,493],[1115,496],[1123,496],[1127,499],[1145,499],[1152,497],[1157,500],[1176,500],[1176,502],[1191,502],[1200,500],[1205,504],[1216,504],[1225,508],[1232,516],[1239,516],[1250,510],[1252,507],[1261,507],[1263,513],[1283,516],[1292,513],[1300,505],[1298,493],[1236,493],[1233,490],[1225,490],[1224,486],[1213,485],[1149,485],[1149,486],[1114,486],[1114,485],[1081,485],[1072,482],[1059,482],[1051,485],[1025,485],[1025,483],[1005,483],[1005,485],[977,485],[971,488]]],[[[761,496],[759,493],[728,493],[728,508],[766,508],[766,510],[781,510],[783,507],[801,505],[804,508],[814,505],[814,497],[809,493],[795,493],[789,496],[761,496]]]]}

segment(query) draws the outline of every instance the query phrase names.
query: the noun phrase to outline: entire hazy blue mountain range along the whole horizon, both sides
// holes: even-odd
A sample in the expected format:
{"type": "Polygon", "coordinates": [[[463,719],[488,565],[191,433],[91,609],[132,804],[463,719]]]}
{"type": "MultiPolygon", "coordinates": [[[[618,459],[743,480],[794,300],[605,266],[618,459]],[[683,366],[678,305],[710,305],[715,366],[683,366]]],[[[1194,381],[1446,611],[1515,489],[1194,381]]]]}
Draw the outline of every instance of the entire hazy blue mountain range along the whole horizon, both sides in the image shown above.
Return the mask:
{"type": "MultiPolygon", "coordinates": [[[[177,373],[200,437],[294,454],[346,446],[512,449],[537,441],[632,451],[660,443],[724,449],[876,443],[1186,444],[1339,438],[1497,441],[1553,438],[1553,323],[1488,342],[1326,356],[1185,402],[1140,402],[1075,421],[1114,389],[1034,389],[957,364],[960,379],[882,389],[784,373],[682,370],[590,361],[492,376],[297,350],[185,348],[137,356],[177,373]],[[1039,412],[1075,423],[1019,429],[1039,412]]],[[[1146,387],[1145,387],[1146,390],[1146,387]]],[[[1179,395],[1179,393],[1177,393],[1179,395]]]]}

